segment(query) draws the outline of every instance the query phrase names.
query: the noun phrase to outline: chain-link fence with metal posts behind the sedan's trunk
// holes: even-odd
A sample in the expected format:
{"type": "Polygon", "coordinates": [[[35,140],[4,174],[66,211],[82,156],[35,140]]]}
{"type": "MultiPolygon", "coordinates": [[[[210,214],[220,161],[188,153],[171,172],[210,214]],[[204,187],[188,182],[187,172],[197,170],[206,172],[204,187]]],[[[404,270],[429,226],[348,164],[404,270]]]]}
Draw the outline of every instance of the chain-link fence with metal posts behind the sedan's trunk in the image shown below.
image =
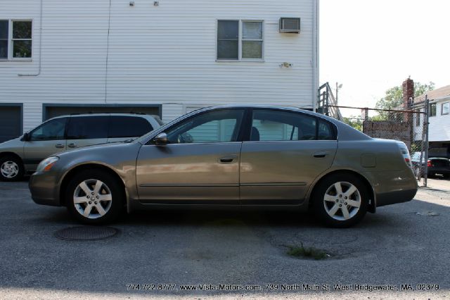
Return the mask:
{"type": "Polygon", "coordinates": [[[411,165],[419,185],[427,185],[428,168],[428,106],[414,107],[412,110],[391,110],[333,106],[339,108],[342,121],[381,139],[396,139],[404,142],[411,155],[411,165]]]}

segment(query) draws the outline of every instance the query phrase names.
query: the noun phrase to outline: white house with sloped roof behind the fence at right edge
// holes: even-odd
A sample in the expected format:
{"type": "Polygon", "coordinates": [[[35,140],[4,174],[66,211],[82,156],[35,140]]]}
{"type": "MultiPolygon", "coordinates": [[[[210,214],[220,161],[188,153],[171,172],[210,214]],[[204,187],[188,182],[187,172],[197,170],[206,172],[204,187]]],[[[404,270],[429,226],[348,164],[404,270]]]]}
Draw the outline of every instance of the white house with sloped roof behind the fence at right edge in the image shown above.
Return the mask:
{"type": "MultiPolygon", "coordinates": [[[[427,92],[430,100],[430,125],[428,125],[428,140],[430,155],[448,156],[450,154],[450,85],[427,92]]],[[[414,99],[414,106],[423,110],[425,94],[414,99]]],[[[422,140],[424,115],[414,119],[416,141],[422,140]]]]}

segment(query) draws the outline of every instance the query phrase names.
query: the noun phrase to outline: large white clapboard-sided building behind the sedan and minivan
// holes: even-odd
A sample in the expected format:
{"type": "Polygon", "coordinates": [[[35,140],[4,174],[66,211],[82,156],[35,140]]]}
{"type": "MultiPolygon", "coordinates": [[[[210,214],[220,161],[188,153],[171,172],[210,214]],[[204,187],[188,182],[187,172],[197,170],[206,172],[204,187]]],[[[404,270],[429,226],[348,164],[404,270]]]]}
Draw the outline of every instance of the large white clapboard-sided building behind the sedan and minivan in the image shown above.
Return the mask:
{"type": "Polygon", "coordinates": [[[65,113],[142,111],[167,122],[215,104],[316,104],[316,0],[1,4],[4,139],[65,113]],[[300,18],[299,34],[281,32],[285,17],[300,18]]]}

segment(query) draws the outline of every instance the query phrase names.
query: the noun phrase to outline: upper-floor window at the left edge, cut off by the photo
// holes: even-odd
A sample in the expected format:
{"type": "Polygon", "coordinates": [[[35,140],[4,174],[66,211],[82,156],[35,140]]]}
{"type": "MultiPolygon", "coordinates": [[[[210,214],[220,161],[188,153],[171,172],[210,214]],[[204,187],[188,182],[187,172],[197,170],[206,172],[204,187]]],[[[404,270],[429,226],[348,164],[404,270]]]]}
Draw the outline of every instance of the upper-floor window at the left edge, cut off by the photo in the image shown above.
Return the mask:
{"type": "Polygon", "coordinates": [[[32,21],[0,20],[0,59],[32,57],[32,21]]]}

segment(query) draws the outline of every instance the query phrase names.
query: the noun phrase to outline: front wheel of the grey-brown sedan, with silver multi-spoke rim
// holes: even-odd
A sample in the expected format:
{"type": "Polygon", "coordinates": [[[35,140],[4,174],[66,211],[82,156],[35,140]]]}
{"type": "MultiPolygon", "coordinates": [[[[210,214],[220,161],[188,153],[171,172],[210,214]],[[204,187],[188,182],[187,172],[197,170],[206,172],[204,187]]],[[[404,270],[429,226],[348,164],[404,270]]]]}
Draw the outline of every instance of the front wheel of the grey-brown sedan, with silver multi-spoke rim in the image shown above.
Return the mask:
{"type": "Polygon", "coordinates": [[[87,225],[111,223],[123,211],[125,200],[122,182],[103,170],[82,170],[65,191],[70,214],[87,225]]]}

